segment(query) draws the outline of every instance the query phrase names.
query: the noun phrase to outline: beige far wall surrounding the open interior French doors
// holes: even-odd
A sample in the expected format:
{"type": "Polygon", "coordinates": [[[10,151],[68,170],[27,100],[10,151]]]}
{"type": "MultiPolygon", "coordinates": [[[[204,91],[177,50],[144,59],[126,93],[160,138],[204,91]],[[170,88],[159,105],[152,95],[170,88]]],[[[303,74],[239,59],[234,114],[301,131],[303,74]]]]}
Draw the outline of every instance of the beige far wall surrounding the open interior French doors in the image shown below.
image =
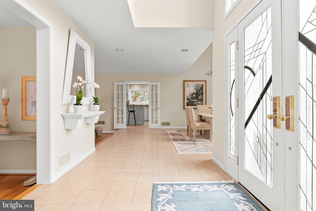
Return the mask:
{"type": "Polygon", "coordinates": [[[170,127],[186,127],[185,110],[183,109],[183,81],[206,81],[206,104],[212,103],[212,77],[204,74],[211,68],[211,47],[208,46],[192,67],[184,74],[96,74],[100,84],[97,95],[100,110],[106,111],[99,121],[105,121],[103,131],[113,131],[113,83],[124,81],[160,82],[160,122],[170,122],[170,127]]]}

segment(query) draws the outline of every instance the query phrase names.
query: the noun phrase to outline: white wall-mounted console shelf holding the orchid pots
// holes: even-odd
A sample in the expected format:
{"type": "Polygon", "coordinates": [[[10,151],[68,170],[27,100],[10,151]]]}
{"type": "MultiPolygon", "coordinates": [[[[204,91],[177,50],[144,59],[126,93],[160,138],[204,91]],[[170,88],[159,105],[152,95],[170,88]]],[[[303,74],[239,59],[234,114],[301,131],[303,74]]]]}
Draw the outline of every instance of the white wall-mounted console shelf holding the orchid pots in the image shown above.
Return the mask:
{"type": "Polygon", "coordinates": [[[78,129],[82,126],[83,120],[87,124],[95,124],[98,122],[100,115],[105,111],[85,111],[82,114],[64,113],[65,129],[78,129]]]}

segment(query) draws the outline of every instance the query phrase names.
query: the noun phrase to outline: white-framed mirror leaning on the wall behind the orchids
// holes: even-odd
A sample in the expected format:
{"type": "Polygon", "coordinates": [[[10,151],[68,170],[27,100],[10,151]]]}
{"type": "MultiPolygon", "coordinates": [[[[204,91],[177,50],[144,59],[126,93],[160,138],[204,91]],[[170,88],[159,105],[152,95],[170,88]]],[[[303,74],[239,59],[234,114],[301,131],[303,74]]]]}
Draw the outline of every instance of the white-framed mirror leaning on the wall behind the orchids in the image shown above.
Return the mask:
{"type": "Polygon", "coordinates": [[[63,105],[73,105],[76,103],[76,88],[72,88],[72,84],[77,82],[77,76],[86,80],[86,84],[82,90],[82,105],[92,104],[91,89],[91,52],[90,45],[85,42],[74,30],[70,30],[66,71],[63,90],[63,105]]]}

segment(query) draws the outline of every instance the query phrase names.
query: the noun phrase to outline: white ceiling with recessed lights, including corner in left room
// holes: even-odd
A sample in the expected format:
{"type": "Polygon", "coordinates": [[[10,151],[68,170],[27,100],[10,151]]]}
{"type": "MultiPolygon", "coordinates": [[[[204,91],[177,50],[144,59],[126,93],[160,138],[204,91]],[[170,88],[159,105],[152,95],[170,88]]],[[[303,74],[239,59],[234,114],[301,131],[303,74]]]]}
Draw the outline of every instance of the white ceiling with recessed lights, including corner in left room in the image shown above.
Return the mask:
{"type": "MultiPolygon", "coordinates": [[[[211,28],[135,28],[127,0],[53,1],[94,42],[95,73],[182,74],[212,42],[211,28]]],[[[28,25],[0,5],[0,26],[28,25]]]]}

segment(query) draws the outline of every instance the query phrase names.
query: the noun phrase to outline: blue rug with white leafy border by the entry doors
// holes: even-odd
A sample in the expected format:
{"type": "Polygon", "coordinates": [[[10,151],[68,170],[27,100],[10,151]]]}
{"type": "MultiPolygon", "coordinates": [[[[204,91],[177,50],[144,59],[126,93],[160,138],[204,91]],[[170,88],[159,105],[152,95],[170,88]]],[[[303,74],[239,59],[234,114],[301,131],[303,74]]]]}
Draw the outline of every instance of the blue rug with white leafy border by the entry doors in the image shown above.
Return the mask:
{"type": "Polygon", "coordinates": [[[263,211],[234,182],[154,183],[152,211],[263,211]]]}

